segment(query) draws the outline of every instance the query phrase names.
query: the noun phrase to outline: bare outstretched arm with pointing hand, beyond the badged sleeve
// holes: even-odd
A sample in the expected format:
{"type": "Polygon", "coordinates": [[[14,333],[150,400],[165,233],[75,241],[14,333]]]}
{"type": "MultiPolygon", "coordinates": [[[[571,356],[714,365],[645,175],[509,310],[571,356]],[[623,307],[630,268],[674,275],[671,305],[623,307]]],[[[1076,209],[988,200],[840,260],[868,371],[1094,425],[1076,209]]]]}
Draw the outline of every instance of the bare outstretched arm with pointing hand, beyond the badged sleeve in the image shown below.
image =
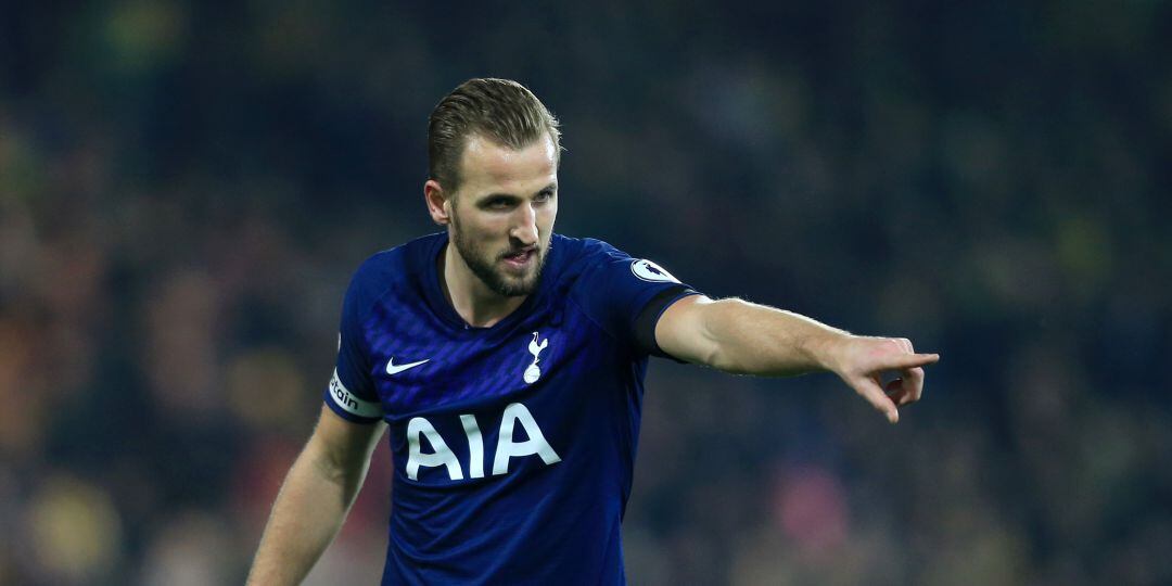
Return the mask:
{"type": "Polygon", "coordinates": [[[887,416],[924,391],[924,367],[940,356],[917,354],[904,338],[857,336],[796,313],[740,299],[691,295],[672,304],[655,326],[663,352],[734,374],[793,376],[830,370],[887,416]],[[899,373],[884,389],[880,376],[899,373]]]}

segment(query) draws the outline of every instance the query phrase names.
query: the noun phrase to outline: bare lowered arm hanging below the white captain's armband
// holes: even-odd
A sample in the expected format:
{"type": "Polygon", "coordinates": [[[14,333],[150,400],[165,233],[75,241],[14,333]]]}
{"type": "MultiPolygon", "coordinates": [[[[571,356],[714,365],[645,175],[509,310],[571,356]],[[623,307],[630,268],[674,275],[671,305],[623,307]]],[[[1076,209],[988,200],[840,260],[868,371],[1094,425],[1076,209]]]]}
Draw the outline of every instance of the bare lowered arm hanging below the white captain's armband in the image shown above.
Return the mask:
{"type": "Polygon", "coordinates": [[[350,423],[321,408],[318,427],[285,477],[248,585],[300,584],[342,526],[387,424],[350,423]]]}

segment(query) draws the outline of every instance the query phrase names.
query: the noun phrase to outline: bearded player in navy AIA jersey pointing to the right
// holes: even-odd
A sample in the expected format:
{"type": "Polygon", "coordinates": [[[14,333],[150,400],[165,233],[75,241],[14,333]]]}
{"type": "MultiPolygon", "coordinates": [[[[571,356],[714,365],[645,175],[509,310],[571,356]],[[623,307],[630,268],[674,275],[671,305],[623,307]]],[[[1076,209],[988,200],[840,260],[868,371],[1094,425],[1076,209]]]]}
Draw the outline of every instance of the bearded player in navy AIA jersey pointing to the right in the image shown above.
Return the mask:
{"type": "Polygon", "coordinates": [[[714,300],[654,261],[554,233],[560,131],[520,84],[461,84],[428,141],[424,202],[444,231],[354,274],[318,427],[250,584],[304,579],[387,429],[383,584],[624,584],[652,355],[761,376],[832,372],[892,423],[920,398],[939,356],[906,339],[714,300]],[[886,373],[898,377],[884,387],[886,373]]]}

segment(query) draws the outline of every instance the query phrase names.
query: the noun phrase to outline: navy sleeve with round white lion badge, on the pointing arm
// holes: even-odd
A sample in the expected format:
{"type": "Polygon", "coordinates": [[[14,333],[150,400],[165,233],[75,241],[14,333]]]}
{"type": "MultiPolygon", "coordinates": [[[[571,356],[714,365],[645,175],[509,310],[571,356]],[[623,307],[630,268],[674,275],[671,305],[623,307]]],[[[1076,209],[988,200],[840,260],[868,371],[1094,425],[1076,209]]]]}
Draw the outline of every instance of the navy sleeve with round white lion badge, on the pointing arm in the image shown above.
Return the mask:
{"type": "Polygon", "coordinates": [[[599,240],[588,241],[588,248],[581,261],[590,266],[574,286],[575,302],[613,338],[642,354],[665,355],[654,335],[642,332],[654,331],[663,309],[697,292],[652,260],[599,240]]]}

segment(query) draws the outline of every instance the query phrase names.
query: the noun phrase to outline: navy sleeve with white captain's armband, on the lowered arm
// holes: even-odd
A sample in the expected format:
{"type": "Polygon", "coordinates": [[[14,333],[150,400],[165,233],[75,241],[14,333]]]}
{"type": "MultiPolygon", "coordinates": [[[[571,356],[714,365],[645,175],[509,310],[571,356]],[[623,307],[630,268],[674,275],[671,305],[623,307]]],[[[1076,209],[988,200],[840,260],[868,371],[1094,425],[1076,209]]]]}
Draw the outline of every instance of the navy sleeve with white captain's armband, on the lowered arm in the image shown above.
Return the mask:
{"type": "Polygon", "coordinates": [[[326,388],[326,404],[340,417],[355,423],[374,423],[382,418],[382,403],[370,379],[370,360],[362,328],[363,314],[373,304],[360,268],[350,280],[342,301],[338,334],[338,362],[326,388]]]}

